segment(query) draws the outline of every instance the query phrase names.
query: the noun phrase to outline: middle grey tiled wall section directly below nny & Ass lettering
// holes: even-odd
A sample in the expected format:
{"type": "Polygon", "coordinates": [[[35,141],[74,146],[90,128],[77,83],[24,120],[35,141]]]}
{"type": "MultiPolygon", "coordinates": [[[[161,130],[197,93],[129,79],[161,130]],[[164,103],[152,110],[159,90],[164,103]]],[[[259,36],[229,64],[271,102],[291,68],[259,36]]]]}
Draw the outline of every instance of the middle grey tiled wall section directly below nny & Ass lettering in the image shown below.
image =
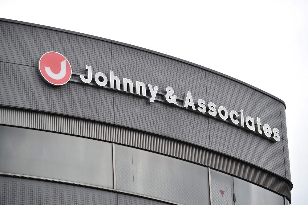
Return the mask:
{"type": "Polygon", "coordinates": [[[116,92],[115,123],[209,147],[207,117],[146,98],[116,92]]]}

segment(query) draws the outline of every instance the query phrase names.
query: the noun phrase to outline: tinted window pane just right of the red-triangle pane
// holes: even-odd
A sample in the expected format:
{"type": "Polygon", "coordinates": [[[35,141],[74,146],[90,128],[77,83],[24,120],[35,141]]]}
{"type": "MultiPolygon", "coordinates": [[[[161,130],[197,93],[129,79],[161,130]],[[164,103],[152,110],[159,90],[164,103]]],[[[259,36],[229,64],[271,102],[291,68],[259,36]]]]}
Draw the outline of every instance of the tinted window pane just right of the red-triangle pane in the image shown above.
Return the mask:
{"type": "Polygon", "coordinates": [[[282,205],[283,197],[262,187],[233,177],[236,205],[282,205]]]}

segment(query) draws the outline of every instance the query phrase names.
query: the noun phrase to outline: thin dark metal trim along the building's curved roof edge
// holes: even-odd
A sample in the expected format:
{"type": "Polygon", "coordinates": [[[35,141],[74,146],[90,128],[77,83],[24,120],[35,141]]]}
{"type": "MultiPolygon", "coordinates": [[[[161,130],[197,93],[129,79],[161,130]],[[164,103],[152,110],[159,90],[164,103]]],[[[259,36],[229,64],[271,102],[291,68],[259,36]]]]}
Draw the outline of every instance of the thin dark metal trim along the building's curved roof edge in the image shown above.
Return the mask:
{"type": "Polygon", "coordinates": [[[143,47],[139,47],[139,46],[134,46],[134,45],[131,45],[131,44],[128,44],[128,43],[122,43],[122,42],[111,40],[111,39],[105,39],[105,38],[102,38],[102,37],[98,37],[98,36],[94,36],[94,35],[88,35],[88,34],[83,34],[83,33],[75,32],[75,31],[69,31],[69,30],[65,30],[65,29],[61,29],[61,28],[49,27],[49,26],[44,26],[44,25],[35,24],[35,23],[27,23],[27,22],[23,22],[23,21],[11,20],[11,19],[7,19],[7,18],[0,18],[0,21],[10,22],[10,23],[18,23],[18,24],[23,24],[23,25],[27,25],[27,26],[40,27],[40,28],[51,29],[51,30],[55,30],[55,31],[61,31],[61,32],[66,32],[66,33],[70,33],[70,34],[75,34],[75,35],[81,35],[81,36],[85,36],[85,37],[88,37],[88,38],[98,39],[98,40],[102,40],[102,41],[107,41],[107,42],[119,44],[119,45],[122,45],[122,46],[127,46],[127,47],[135,48],[135,49],[138,49],[138,50],[146,51],[146,52],[149,52],[149,53],[154,53],[156,55],[161,55],[161,56],[164,56],[164,57],[167,57],[167,58],[170,58],[170,59],[174,59],[174,60],[186,63],[186,64],[193,65],[193,66],[198,67],[198,68],[202,68],[202,69],[207,70],[209,72],[213,72],[213,73],[218,74],[220,76],[223,76],[225,78],[229,78],[229,79],[234,80],[234,81],[236,81],[238,83],[244,84],[244,85],[246,85],[246,86],[248,86],[250,88],[253,88],[253,89],[255,89],[255,90],[259,91],[259,92],[264,93],[267,96],[270,96],[270,97],[280,101],[285,106],[285,108],[286,108],[286,103],[283,100],[281,100],[280,98],[278,98],[276,96],[273,96],[272,94],[270,94],[268,92],[265,92],[265,91],[263,91],[263,90],[261,90],[259,88],[256,88],[253,85],[245,83],[245,82],[243,82],[241,80],[237,80],[236,78],[233,78],[231,76],[225,75],[225,74],[223,74],[221,72],[212,70],[210,68],[206,68],[204,66],[201,66],[201,65],[189,62],[187,60],[183,60],[183,59],[180,59],[180,58],[173,57],[171,55],[167,55],[167,54],[160,53],[160,52],[157,52],[157,51],[152,51],[152,50],[149,50],[149,49],[146,49],[146,48],[143,48],[143,47]]]}

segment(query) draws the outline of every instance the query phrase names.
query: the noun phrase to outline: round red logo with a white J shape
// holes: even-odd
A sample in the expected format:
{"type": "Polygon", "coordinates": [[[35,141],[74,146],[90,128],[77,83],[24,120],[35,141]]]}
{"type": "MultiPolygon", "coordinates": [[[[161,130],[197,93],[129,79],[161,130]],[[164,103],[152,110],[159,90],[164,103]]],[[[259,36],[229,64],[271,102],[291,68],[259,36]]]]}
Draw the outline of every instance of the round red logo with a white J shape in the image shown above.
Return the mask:
{"type": "Polygon", "coordinates": [[[60,86],[66,84],[72,75],[71,64],[60,53],[47,52],[39,59],[39,74],[48,84],[60,86]]]}

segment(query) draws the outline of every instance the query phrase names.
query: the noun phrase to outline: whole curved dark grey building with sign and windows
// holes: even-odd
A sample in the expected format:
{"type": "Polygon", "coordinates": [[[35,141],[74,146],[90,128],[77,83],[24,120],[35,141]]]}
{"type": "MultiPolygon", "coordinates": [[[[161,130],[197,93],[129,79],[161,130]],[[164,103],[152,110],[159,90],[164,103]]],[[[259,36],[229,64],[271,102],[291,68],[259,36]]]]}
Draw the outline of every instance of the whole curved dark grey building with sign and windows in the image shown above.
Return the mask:
{"type": "Polygon", "coordinates": [[[282,100],[141,47],[0,25],[1,204],[290,204],[282,100]]]}

